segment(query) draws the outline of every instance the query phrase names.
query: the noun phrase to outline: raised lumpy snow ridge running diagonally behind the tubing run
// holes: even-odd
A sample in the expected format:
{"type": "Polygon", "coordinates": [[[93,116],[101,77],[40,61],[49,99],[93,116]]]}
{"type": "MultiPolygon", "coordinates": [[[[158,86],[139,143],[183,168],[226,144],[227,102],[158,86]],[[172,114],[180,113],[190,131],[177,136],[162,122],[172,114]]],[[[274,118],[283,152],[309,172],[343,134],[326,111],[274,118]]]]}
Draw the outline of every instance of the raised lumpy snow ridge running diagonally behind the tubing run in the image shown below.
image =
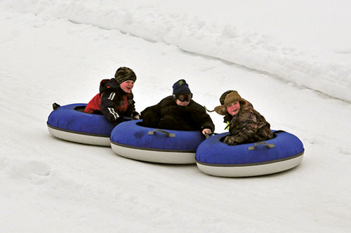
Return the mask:
{"type": "MultiPolygon", "coordinates": [[[[238,29],[232,23],[205,21],[184,13],[159,12],[152,6],[126,6],[115,1],[1,1],[25,13],[66,18],[71,22],[119,29],[153,42],[164,42],[199,55],[220,58],[267,72],[298,86],[351,102],[351,60],[318,51],[285,46],[265,34],[238,29]]],[[[0,6],[1,6],[0,5],[0,6]]]]}

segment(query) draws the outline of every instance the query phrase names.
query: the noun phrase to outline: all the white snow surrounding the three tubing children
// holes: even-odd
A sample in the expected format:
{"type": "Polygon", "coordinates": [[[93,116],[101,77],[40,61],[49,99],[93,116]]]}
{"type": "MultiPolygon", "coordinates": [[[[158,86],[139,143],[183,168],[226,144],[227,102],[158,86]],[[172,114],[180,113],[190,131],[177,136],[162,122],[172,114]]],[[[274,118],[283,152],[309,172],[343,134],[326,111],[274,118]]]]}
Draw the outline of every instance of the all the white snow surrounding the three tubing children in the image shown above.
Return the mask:
{"type": "Polygon", "coordinates": [[[0,232],[348,232],[350,6],[0,0],[0,232]],[[218,178],[53,138],[51,104],[88,102],[120,66],[138,112],[178,79],[208,109],[239,91],[303,141],[302,164],[218,178]]]}

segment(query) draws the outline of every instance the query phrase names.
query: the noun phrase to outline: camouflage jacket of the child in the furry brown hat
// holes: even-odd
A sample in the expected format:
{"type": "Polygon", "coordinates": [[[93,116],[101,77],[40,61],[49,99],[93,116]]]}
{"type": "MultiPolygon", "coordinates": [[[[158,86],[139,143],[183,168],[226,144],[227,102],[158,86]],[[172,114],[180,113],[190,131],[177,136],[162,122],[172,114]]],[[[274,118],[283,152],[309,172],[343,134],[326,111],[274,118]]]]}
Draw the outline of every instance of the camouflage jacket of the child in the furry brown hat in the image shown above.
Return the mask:
{"type": "Polygon", "coordinates": [[[273,138],[270,124],[252,105],[240,108],[238,114],[230,121],[230,135],[223,142],[228,145],[238,145],[260,142],[273,138]]]}

